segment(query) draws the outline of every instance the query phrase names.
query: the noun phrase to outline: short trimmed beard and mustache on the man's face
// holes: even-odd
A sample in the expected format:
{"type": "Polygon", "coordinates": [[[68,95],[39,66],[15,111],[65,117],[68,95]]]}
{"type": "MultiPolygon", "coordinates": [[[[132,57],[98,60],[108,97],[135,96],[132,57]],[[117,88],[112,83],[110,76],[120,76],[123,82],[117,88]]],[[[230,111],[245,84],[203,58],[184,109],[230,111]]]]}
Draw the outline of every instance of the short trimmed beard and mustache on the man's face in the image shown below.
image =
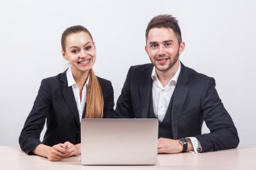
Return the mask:
{"type": "Polygon", "coordinates": [[[165,65],[158,65],[156,60],[152,64],[156,67],[158,71],[168,71],[179,59],[179,52],[174,56],[157,56],[156,58],[168,57],[168,62],[165,65]]]}

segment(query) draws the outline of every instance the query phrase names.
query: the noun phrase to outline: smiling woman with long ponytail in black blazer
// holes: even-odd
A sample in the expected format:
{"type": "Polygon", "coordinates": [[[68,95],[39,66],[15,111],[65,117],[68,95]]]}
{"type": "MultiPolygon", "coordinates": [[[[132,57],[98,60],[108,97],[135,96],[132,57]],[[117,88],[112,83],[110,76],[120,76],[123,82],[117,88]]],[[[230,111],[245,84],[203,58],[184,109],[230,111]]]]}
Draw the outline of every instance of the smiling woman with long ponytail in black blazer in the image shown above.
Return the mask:
{"type": "Polygon", "coordinates": [[[82,118],[112,118],[114,92],[110,81],[94,75],[96,46],[83,26],[67,28],[61,37],[63,58],[70,67],[43,79],[19,142],[22,151],[50,161],[77,156],[82,118]],[[46,120],[44,140],[40,133],[46,120]]]}

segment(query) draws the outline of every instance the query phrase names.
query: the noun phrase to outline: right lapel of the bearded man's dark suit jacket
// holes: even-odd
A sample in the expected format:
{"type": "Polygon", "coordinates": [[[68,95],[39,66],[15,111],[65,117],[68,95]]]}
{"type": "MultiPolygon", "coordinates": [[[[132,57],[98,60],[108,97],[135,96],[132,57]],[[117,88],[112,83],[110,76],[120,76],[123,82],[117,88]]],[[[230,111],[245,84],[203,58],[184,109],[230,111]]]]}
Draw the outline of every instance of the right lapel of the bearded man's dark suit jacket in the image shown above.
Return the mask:
{"type": "Polygon", "coordinates": [[[187,93],[189,92],[189,86],[187,85],[187,81],[189,81],[189,75],[186,73],[185,66],[181,63],[181,73],[179,75],[179,79],[173,93],[172,103],[171,120],[172,134],[174,139],[177,139],[178,137],[179,117],[181,115],[183,103],[185,102],[187,93]]]}

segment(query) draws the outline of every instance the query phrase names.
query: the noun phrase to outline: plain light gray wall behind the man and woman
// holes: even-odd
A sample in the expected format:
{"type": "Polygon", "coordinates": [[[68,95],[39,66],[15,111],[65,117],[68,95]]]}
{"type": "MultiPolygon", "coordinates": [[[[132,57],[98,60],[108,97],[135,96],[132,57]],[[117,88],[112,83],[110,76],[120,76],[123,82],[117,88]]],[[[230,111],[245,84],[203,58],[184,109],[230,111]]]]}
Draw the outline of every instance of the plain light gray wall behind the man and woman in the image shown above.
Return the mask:
{"type": "MultiPolygon", "coordinates": [[[[63,72],[61,34],[81,24],[97,47],[96,75],[109,79],[115,102],[131,65],[150,62],[145,30],[162,13],[179,19],[181,61],[216,79],[241,142],[255,146],[255,1],[1,1],[0,145],[18,146],[40,81],[63,72]]],[[[208,132],[203,126],[203,132],[208,132]]]]}

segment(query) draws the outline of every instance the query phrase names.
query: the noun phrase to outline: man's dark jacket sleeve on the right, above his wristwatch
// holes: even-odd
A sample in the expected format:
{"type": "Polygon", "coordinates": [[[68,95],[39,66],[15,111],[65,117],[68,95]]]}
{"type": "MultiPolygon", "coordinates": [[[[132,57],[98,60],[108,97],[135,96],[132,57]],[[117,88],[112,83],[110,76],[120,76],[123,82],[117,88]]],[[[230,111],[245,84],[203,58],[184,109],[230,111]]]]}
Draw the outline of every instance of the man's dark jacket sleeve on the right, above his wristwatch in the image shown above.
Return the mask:
{"type": "Polygon", "coordinates": [[[208,79],[201,96],[203,120],[210,129],[209,134],[195,136],[201,144],[201,152],[236,148],[239,143],[236,127],[224,108],[215,86],[215,80],[208,79]]]}

